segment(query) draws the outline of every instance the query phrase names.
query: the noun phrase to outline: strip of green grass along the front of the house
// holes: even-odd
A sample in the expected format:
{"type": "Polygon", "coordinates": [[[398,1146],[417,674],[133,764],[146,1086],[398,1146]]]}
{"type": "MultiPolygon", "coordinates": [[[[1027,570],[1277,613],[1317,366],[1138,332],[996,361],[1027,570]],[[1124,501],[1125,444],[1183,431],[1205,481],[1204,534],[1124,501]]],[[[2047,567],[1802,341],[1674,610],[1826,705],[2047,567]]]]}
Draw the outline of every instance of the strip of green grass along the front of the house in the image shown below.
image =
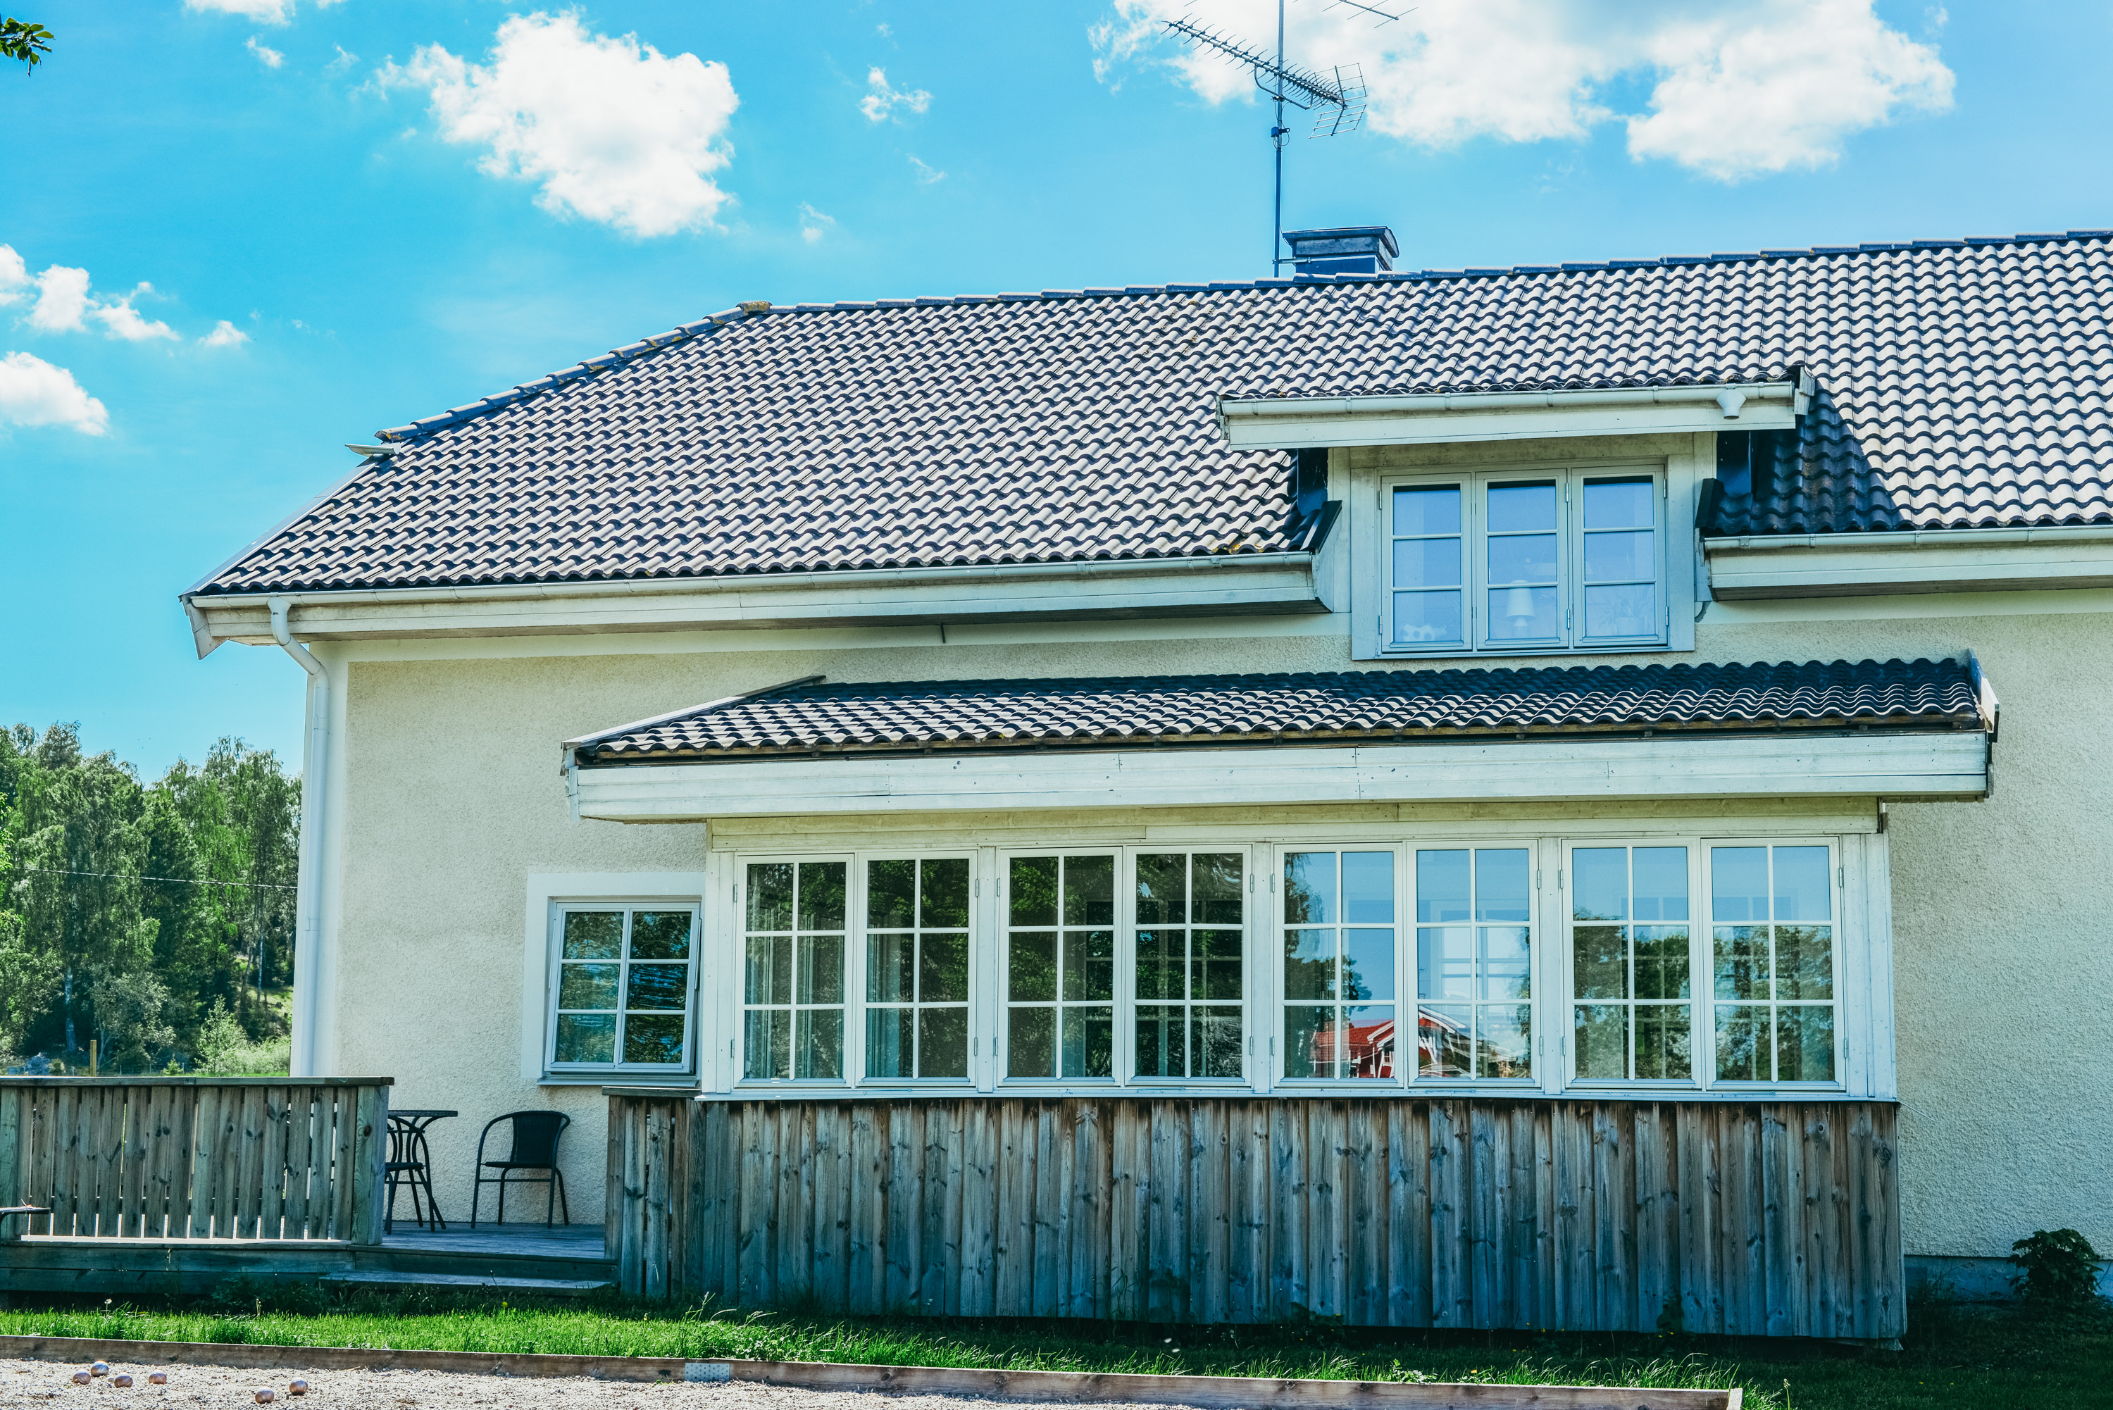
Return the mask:
{"type": "Polygon", "coordinates": [[[1942,1300],[1914,1306],[1904,1351],[1703,1336],[856,1321],[621,1300],[509,1306],[418,1292],[325,1296],[304,1290],[281,1294],[275,1306],[268,1294],[258,1298],[245,1285],[190,1306],[66,1306],[53,1300],[44,1309],[0,1311],[0,1332],[1346,1380],[1743,1385],[1752,1410],[2102,1410],[2113,1385],[2113,1311],[2060,1317],[1942,1300]]]}

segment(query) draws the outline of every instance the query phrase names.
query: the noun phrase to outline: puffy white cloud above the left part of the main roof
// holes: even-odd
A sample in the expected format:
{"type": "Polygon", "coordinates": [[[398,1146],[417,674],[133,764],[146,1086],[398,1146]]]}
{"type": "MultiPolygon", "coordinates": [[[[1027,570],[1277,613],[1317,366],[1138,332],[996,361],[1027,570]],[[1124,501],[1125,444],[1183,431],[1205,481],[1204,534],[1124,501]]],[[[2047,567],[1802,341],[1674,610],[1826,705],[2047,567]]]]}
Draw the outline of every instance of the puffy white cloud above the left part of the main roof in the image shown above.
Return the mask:
{"type": "Polygon", "coordinates": [[[668,57],[636,34],[587,34],[577,15],[513,15],[488,63],[427,44],[389,63],[385,87],[427,89],[448,142],[490,150],[488,175],[541,182],[537,205],[577,211],[628,235],[674,235],[729,199],[710,173],[731,159],[740,106],[725,63],[668,57]]]}

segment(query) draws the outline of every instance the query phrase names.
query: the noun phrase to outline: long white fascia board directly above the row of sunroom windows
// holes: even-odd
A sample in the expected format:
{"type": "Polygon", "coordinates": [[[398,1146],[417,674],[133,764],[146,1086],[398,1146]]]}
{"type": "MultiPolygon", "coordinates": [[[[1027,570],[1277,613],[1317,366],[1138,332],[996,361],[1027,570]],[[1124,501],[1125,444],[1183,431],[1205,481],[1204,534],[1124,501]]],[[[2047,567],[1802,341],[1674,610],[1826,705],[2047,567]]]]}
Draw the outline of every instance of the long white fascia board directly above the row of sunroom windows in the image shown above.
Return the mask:
{"type": "Polygon", "coordinates": [[[689,822],[989,808],[1433,803],[1616,797],[1927,797],[1988,791],[1959,734],[1507,740],[1342,748],[1048,750],[573,769],[579,818],[689,822]]]}

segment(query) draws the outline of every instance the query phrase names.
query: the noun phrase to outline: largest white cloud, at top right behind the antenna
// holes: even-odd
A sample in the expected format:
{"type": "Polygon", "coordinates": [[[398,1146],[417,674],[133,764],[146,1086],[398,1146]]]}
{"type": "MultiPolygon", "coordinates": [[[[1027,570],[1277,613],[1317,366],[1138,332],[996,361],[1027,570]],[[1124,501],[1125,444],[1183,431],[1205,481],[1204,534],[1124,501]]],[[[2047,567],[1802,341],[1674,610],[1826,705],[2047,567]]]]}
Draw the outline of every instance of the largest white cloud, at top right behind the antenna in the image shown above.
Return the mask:
{"type": "MultiPolygon", "coordinates": [[[[1164,61],[1200,97],[1251,97],[1249,72],[1173,44],[1162,19],[1183,0],[1116,0],[1090,30],[1105,80],[1130,61],[1164,61]]],[[[1274,32],[1270,0],[1223,0],[1232,38],[1274,32]]],[[[1952,104],[1952,72],[1931,44],[1881,21],[1872,0],[1479,0],[1426,4],[1373,25],[1350,6],[1308,11],[1289,59],[1331,74],[1359,63],[1369,125],[1445,148],[1471,137],[1578,140],[1621,120],[1629,154],[1718,180],[1819,167],[1870,127],[1952,104]],[[1616,110],[1616,80],[1648,80],[1642,112],[1616,110]]]]}

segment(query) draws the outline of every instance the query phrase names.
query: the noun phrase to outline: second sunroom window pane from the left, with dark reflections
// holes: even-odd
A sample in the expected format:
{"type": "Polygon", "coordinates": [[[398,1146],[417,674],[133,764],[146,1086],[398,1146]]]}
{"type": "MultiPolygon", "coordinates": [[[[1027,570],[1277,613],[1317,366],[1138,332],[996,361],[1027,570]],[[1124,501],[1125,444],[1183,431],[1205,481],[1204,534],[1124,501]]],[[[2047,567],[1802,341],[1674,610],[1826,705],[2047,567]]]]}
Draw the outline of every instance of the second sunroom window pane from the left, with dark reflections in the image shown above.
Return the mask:
{"type": "Polygon", "coordinates": [[[866,862],[866,1076],[968,1076],[968,858],[866,862]]]}

